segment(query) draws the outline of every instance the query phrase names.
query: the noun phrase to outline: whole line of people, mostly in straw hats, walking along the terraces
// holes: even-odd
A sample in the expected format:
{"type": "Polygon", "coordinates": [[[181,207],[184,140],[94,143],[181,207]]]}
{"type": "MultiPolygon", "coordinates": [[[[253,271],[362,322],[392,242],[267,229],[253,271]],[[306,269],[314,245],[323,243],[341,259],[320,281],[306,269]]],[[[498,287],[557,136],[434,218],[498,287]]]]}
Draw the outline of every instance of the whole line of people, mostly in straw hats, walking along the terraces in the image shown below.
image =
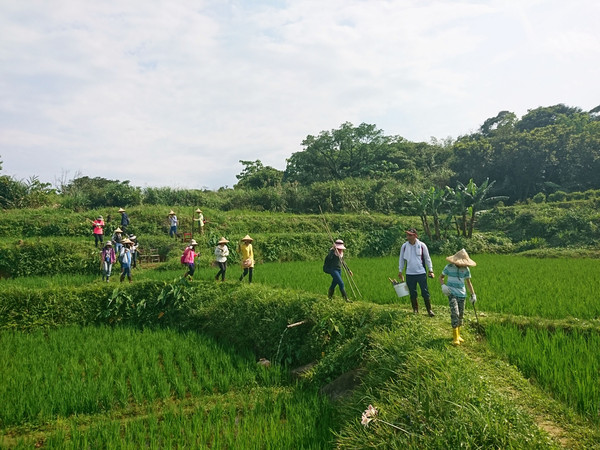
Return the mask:
{"type": "MultiPolygon", "coordinates": [[[[118,212],[121,214],[121,225],[115,230],[112,239],[104,245],[101,253],[102,280],[109,281],[112,266],[118,259],[121,264],[120,280],[123,281],[127,278],[129,282],[131,282],[131,269],[132,267],[136,267],[138,243],[136,236],[128,235],[127,237],[123,237],[129,226],[129,217],[123,208],[119,208],[118,212]]],[[[198,217],[193,220],[199,223],[199,229],[201,234],[203,234],[206,220],[204,219],[202,210],[198,208],[195,212],[198,217]]],[[[168,218],[170,226],[169,235],[177,236],[177,226],[179,221],[173,210],[169,212],[168,218]]],[[[96,247],[98,247],[99,243],[103,243],[104,225],[102,216],[98,216],[96,220],[93,221],[93,235],[96,247]]],[[[252,283],[255,263],[254,249],[252,247],[253,241],[254,239],[249,235],[246,235],[241,239],[238,246],[237,250],[242,268],[239,281],[242,281],[247,276],[248,282],[252,283]]],[[[229,241],[225,237],[221,237],[215,247],[214,264],[219,269],[215,275],[215,280],[220,279],[221,281],[225,281],[227,258],[229,257],[228,243],[229,241]]],[[[199,256],[199,253],[196,252],[197,246],[198,243],[192,239],[181,256],[181,263],[187,266],[186,273],[184,274],[185,277],[192,278],[194,276],[196,269],[195,261],[199,256]]],[[[349,301],[342,279],[342,269],[346,271],[349,277],[352,277],[353,273],[344,261],[344,250],[346,250],[344,241],[341,239],[334,241],[333,246],[329,249],[329,252],[325,257],[323,271],[331,275],[331,284],[327,296],[333,298],[335,288],[338,287],[342,298],[349,301]]],[[[454,345],[460,345],[461,342],[464,341],[460,336],[460,327],[463,323],[467,289],[471,294],[471,303],[475,304],[477,301],[477,296],[473,284],[471,283],[471,272],[469,270],[469,267],[474,267],[476,263],[469,257],[465,249],[458,251],[452,256],[448,256],[446,260],[448,261],[448,264],[442,270],[439,282],[442,293],[448,297],[448,304],[450,306],[450,321],[453,336],[452,343],[454,345]]],[[[433,263],[427,245],[419,240],[418,233],[414,228],[406,230],[406,242],[404,242],[400,248],[398,277],[401,282],[405,281],[405,275],[406,286],[408,288],[413,312],[415,314],[418,314],[419,312],[418,287],[421,291],[427,314],[430,317],[434,317],[435,313],[431,307],[431,295],[427,285],[428,277],[435,278],[433,263]]]]}

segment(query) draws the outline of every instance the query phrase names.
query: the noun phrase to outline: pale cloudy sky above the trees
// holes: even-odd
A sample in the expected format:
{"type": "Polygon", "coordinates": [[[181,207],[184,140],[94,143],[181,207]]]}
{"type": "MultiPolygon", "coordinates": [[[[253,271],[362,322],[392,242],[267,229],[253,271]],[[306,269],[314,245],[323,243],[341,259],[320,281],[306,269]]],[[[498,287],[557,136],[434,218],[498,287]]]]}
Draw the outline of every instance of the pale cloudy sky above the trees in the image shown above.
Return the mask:
{"type": "Polygon", "coordinates": [[[597,0],[0,2],[0,175],[232,187],[308,135],[600,104],[597,0]]]}

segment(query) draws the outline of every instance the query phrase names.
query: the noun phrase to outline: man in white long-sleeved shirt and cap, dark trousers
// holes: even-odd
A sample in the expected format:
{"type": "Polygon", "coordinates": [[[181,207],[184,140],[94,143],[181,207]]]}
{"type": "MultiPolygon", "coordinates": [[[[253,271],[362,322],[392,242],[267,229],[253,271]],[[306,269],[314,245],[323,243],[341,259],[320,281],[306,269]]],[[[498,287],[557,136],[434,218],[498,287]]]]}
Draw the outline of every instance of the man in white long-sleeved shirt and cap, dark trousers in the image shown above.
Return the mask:
{"type": "Polygon", "coordinates": [[[402,244],[400,249],[400,259],[398,262],[398,277],[400,281],[404,281],[402,272],[406,266],[406,285],[410,292],[410,302],[412,303],[413,312],[416,314],[419,312],[419,304],[417,302],[417,284],[421,288],[421,295],[425,301],[425,307],[427,308],[427,314],[433,317],[435,314],[431,310],[431,300],[429,295],[429,289],[427,289],[427,272],[429,277],[433,278],[433,264],[431,263],[431,257],[429,256],[429,249],[427,246],[419,241],[417,230],[411,228],[406,231],[406,242],[402,244]],[[429,269],[428,271],[426,269],[429,269]]]}

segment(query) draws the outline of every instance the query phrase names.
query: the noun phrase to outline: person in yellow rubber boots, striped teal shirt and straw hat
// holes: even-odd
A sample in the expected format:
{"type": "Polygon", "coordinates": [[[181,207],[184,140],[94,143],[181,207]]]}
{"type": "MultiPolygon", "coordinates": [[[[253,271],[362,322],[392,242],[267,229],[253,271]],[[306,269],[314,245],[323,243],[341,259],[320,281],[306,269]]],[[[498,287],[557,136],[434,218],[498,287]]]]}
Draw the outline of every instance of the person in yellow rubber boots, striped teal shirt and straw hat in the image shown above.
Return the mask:
{"type": "Polygon", "coordinates": [[[450,305],[450,323],[452,324],[452,344],[460,345],[464,339],[460,337],[460,327],[465,313],[465,299],[467,297],[466,287],[471,293],[471,303],[477,301],[473,284],[471,283],[471,271],[469,267],[475,267],[477,263],[469,258],[469,254],[463,248],[452,256],[446,258],[450,264],[446,264],[440,275],[442,292],[448,296],[450,305]],[[444,283],[444,280],[446,282],[444,283]]]}

